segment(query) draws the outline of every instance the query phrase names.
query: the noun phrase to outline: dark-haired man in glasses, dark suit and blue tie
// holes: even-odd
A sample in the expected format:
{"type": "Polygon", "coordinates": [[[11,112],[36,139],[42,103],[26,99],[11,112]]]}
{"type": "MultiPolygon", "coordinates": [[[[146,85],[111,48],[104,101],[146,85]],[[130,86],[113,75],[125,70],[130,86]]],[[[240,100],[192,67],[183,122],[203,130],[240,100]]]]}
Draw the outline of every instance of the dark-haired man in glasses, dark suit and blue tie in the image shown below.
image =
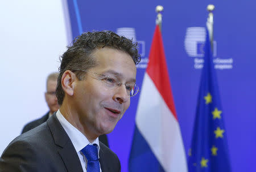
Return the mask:
{"type": "Polygon", "coordinates": [[[112,132],[138,92],[137,44],[113,32],[88,32],[62,55],[56,96],[60,109],[16,137],[0,171],[121,171],[118,157],[98,141],[112,132]]]}

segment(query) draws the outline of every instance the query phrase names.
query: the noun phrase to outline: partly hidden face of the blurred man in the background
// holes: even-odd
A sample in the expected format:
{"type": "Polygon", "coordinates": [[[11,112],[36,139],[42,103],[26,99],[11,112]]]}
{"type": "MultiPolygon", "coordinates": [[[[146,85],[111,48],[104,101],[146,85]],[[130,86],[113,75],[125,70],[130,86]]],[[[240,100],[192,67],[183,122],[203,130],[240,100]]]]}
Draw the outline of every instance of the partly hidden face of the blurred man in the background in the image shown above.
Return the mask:
{"type": "Polygon", "coordinates": [[[59,109],[59,104],[57,103],[57,97],[55,94],[57,81],[48,80],[47,92],[45,93],[46,102],[49,107],[50,113],[53,113],[59,109]]]}

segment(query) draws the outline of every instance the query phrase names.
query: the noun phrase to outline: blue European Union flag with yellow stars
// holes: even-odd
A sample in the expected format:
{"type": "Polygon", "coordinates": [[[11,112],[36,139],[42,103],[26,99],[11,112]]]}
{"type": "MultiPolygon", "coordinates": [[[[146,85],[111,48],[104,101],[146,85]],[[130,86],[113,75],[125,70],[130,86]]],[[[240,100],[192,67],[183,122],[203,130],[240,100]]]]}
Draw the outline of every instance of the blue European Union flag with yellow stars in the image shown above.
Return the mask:
{"type": "Polygon", "coordinates": [[[209,33],[204,46],[204,67],[201,74],[192,145],[189,149],[189,171],[229,172],[229,153],[220,95],[213,65],[209,33]]]}

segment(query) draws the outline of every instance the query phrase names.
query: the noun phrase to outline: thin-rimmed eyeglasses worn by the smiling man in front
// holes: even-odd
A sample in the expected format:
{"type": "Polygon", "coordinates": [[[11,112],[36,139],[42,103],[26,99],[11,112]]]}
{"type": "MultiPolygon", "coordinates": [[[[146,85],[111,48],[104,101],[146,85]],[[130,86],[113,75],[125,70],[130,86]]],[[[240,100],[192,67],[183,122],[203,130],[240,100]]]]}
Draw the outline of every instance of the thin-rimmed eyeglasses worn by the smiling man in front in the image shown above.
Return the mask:
{"type": "Polygon", "coordinates": [[[130,97],[135,96],[139,92],[139,87],[135,83],[121,83],[120,81],[118,81],[118,79],[116,79],[114,77],[110,77],[110,76],[106,76],[103,74],[99,74],[96,72],[90,72],[90,71],[86,71],[86,70],[73,70],[73,71],[84,71],[84,72],[89,72],[91,74],[94,74],[94,76],[95,76],[94,79],[102,81],[104,83],[104,85],[106,85],[106,87],[108,87],[110,89],[117,88],[123,84],[123,85],[125,85],[127,95],[130,97]]]}

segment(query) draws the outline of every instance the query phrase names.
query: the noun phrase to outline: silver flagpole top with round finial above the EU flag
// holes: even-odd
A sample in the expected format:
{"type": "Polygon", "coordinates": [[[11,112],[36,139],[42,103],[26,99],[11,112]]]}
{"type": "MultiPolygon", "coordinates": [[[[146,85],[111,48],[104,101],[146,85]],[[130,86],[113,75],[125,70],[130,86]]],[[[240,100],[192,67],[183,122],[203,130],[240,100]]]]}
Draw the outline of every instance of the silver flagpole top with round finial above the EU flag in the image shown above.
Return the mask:
{"type": "Polygon", "coordinates": [[[209,37],[210,37],[210,45],[213,50],[213,10],[214,10],[214,5],[208,5],[207,10],[209,11],[209,15],[207,18],[207,28],[209,31],[209,37]]]}

